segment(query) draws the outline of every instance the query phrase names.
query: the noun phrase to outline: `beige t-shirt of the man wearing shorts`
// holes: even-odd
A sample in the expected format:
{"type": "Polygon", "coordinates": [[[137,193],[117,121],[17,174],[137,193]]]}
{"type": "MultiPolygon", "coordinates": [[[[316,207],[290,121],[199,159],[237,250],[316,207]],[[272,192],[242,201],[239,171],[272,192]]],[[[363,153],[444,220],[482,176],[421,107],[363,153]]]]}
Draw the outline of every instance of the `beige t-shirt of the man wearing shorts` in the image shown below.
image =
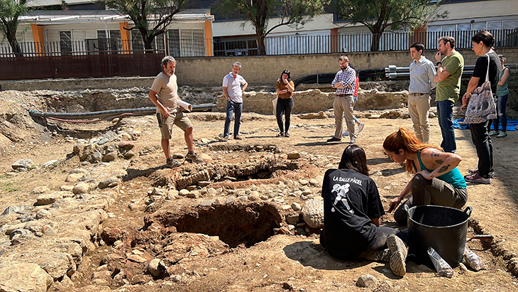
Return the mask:
{"type": "MultiPolygon", "coordinates": [[[[178,85],[176,82],[176,75],[173,74],[171,77],[165,75],[164,72],[155,77],[151,90],[158,92],[158,101],[167,108],[170,114],[174,114],[178,107],[178,85]]],[[[157,113],[161,114],[160,109],[157,107],[157,113]]]]}

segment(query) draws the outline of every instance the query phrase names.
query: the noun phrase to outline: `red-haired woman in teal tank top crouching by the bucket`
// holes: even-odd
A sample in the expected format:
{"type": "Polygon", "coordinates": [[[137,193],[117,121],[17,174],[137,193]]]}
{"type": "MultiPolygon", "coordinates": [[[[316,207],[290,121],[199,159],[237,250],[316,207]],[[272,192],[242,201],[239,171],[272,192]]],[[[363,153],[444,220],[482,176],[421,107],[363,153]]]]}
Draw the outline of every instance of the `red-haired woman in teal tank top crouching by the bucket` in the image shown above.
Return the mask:
{"type": "Polygon", "coordinates": [[[461,156],[443,152],[431,144],[423,144],[414,133],[404,128],[387,136],[383,149],[395,163],[406,161],[407,171],[414,173],[407,187],[390,200],[389,212],[392,212],[404,197],[412,193],[412,198],[394,213],[394,220],[399,225],[407,225],[404,205],[441,205],[460,209],[468,200],[465,180],[457,169],[462,161],[461,156]]]}

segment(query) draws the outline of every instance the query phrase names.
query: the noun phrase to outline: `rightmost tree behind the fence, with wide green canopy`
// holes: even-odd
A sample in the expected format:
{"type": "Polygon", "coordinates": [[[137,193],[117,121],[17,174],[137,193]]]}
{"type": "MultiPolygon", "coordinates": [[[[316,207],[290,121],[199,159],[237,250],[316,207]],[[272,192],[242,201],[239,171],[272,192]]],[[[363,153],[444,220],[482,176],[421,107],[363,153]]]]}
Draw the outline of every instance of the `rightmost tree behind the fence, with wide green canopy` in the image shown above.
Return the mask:
{"type": "Polygon", "coordinates": [[[443,1],[431,0],[336,0],[333,10],[338,17],[362,23],[373,33],[370,50],[379,50],[382,33],[387,30],[414,29],[427,21],[446,18],[448,11],[435,14],[443,1]]]}

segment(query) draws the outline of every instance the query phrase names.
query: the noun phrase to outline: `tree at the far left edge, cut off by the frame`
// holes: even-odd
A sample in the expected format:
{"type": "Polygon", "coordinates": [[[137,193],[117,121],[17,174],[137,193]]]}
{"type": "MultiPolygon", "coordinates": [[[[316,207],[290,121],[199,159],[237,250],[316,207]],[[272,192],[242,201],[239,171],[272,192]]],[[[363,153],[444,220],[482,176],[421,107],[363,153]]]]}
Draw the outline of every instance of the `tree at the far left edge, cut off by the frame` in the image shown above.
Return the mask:
{"type": "Polygon", "coordinates": [[[7,39],[16,55],[21,55],[21,48],[16,40],[18,17],[27,11],[28,0],[0,0],[0,33],[7,39]]]}

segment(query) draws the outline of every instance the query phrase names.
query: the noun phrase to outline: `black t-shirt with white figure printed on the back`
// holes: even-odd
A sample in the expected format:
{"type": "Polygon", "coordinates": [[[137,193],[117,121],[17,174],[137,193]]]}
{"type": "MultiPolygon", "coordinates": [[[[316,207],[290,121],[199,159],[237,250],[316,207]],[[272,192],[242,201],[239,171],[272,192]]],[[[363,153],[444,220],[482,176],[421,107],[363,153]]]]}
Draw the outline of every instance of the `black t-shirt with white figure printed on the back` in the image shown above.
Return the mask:
{"type": "Polygon", "coordinates": [[[375,240],[371,221],[385,215],[372,178],[350,169],[329,169],[322,185],[324,229],[320,243],[332,256],[355,258],[375,240]]]}

